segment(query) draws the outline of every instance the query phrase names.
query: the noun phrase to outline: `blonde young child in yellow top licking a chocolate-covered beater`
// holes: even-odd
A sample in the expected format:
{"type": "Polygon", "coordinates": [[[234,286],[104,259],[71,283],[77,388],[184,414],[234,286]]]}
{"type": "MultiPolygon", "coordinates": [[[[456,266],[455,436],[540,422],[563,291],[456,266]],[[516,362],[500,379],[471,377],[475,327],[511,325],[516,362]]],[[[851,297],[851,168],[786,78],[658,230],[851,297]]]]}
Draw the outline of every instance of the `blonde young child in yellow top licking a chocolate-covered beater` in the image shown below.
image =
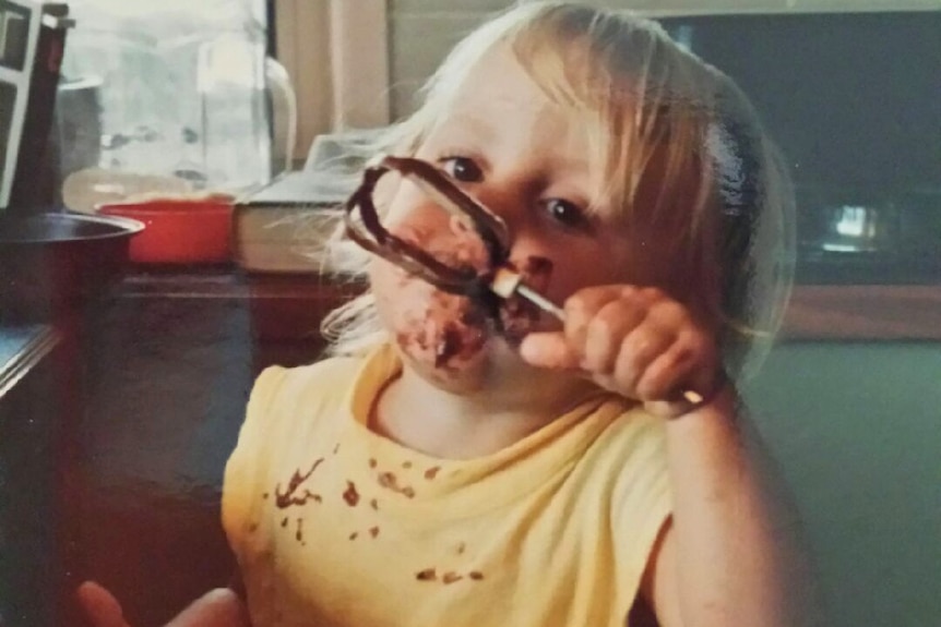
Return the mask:
{"type": "MultiPolygon", "coordinates": [[[[327,321],[333,357],[261,374],[226,469],[252,624],[803,624],[734,384],[786,300],[789,188],[731,82],[653,23],[524,2],[378,148],[502,218],[564,322],[501,333],[341,242],[368,293],[327,321]]],[[[376,196],[391,232],[479,266],[412,182],[376,196]]]]}

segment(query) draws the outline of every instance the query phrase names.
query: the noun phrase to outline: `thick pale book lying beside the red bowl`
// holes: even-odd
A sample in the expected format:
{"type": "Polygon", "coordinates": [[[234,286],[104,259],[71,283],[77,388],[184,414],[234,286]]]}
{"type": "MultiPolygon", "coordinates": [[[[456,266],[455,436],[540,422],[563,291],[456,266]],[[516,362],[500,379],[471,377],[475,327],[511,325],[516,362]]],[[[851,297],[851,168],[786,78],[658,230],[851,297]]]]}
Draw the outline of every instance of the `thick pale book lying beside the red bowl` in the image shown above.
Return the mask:
{"type": "Polygon", "coordinates": [[[233,255],[249,273],[317,273],[323,242],[356,181],[299,170],[236,201],[233,255]]]}

